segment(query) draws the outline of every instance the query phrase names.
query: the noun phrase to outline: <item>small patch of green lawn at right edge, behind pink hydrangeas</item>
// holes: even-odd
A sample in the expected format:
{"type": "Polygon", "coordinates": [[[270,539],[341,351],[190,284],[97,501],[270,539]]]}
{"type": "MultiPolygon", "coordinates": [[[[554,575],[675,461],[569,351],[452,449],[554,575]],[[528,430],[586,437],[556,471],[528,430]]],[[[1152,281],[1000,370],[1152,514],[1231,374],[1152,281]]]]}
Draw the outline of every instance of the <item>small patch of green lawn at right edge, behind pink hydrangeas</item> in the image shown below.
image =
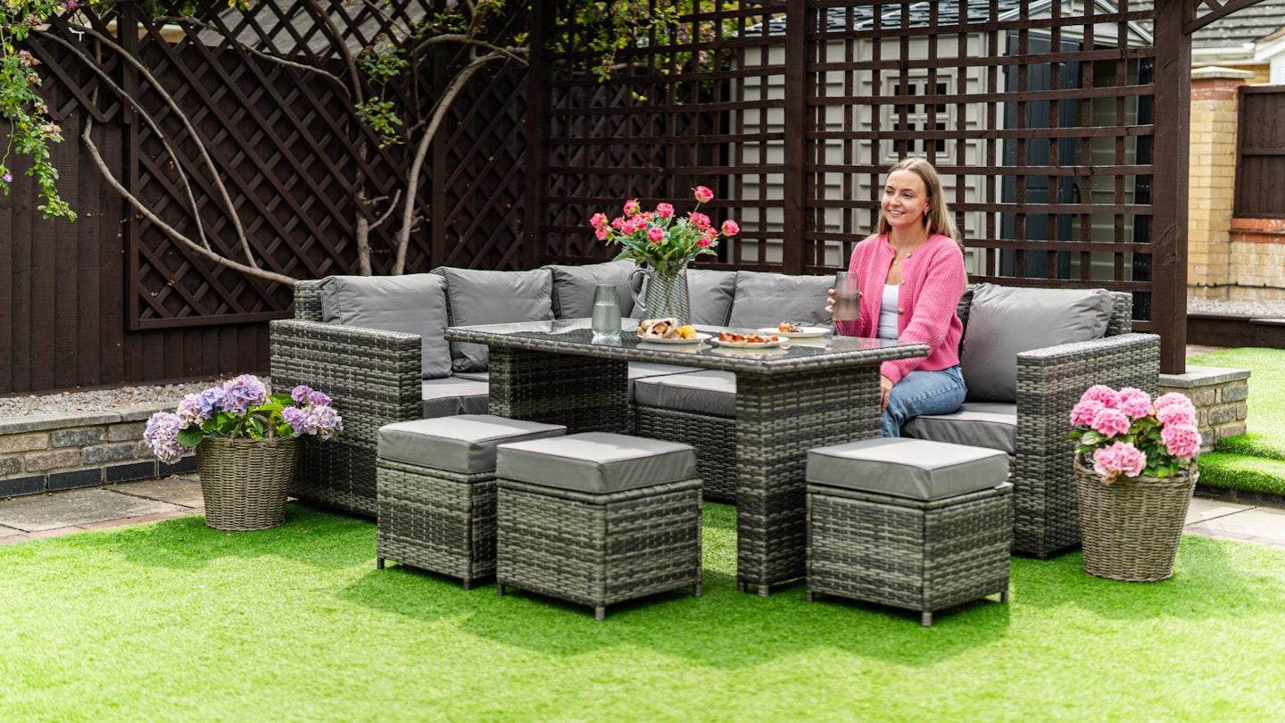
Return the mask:
{"type": "Polygon", "coordinates": [[[1187,358],[1200,367],[1249,369],[1249,432],[1200,455],[1200,484],[1285,495],[1285,350],[1227,349],[1187,358]]]}

